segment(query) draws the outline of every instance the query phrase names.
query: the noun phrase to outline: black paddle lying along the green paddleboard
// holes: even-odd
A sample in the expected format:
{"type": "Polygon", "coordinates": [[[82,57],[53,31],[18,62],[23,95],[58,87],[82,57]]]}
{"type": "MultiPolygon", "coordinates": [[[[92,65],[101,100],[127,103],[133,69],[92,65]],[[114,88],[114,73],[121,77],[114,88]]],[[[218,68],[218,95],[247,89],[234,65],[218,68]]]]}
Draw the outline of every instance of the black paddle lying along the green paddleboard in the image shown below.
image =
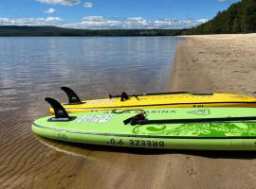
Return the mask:
{"type": "MultiPolygon", "coordinates": [[[[141,114],[141,113],[140,113],[141,114]]],[[[198,119],[159,119],[149,120],[137,114],[123,121],[124,125],[150,125],[150,124],[186,124],[186,123],[212,123],[212,122],[235,122],[235,121],[256,121],[256,116],[250,117],[216,117],[198,119]]]]}

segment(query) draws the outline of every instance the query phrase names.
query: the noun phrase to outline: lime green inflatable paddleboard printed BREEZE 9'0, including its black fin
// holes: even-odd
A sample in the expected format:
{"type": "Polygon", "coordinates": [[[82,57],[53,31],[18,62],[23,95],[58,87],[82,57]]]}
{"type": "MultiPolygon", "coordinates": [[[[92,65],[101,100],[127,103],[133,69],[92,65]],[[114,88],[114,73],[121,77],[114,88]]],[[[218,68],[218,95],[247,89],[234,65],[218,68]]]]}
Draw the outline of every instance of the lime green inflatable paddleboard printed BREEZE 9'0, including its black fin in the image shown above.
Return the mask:
{"type": "Polygon", "coordinates": [[[55,116],[35,120],[34,133],[101,146],[196,150],[256,150],[256,109],[172,108],[68,114],[52,98],[55,116]]]}

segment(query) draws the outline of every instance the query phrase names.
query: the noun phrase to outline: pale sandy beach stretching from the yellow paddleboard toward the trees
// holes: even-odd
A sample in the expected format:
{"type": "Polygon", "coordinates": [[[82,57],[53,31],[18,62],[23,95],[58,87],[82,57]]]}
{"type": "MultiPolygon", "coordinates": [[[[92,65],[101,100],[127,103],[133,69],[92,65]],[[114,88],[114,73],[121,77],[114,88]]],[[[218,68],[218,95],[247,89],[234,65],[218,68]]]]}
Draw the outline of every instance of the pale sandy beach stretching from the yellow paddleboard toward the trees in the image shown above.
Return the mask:
{"type": "Polygon", "coordinates": [[[169,91],[256,92],[256,34],[186,36],[177,46],[169,91]]]}

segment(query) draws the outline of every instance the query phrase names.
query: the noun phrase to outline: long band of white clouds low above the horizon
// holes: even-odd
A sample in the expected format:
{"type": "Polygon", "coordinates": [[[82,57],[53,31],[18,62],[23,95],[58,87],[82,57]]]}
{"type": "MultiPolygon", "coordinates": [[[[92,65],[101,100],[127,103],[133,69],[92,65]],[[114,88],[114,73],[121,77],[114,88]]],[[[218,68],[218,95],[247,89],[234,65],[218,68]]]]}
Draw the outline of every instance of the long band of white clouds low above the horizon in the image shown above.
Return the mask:
{"type": "Polygon", "coordinates": [[[206,23],[208,19],[174,19],[163,18],[148,20],[142,17],[124,19],[103,16],[86,16],[79,22],[67,23],[59,17],[46,18],[0,18],[0,26],[62,26],[82,29],[176,29],[190,28],[206,23]]]}

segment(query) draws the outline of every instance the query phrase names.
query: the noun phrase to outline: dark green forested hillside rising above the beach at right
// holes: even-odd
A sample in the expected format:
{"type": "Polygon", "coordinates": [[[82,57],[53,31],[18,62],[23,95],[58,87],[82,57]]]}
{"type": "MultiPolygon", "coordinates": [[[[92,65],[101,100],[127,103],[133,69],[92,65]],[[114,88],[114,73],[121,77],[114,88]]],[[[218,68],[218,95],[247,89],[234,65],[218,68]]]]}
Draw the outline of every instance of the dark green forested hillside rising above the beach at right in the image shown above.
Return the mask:
{"type": "Polygon", "coordinates": [[[209,22],[183,34],[227,34],[256,32],[256,0],[242,0],[228,10],[218,12],[209,22]]]}

